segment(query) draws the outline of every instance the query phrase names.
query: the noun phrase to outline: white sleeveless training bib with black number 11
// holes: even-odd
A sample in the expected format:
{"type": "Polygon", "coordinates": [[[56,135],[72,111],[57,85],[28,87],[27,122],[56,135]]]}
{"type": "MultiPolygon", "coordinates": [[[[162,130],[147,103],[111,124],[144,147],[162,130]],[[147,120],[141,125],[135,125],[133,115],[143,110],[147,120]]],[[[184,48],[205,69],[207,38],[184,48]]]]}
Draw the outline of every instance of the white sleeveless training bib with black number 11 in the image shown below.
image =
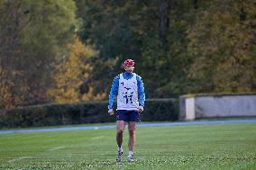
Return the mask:
{"type": "Polygon", "coordinates": [[[118,94],[117,94],[117,110],[136,111],[139,106],[138,85],[136,74],[129,80],[123,78],[120,74],[118,94]]]}

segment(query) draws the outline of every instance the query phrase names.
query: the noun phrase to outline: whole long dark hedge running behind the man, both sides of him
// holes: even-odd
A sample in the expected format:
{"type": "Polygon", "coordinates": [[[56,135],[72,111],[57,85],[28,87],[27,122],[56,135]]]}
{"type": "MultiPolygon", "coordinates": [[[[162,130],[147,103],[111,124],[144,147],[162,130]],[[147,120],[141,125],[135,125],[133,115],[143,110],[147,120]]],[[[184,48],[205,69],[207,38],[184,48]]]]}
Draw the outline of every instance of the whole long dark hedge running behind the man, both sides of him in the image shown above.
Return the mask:
{"type": "MultiPolygon", "coordinates": [[[[116,104],[115,104],[116,105],[116,104]]],[[[177,121],[178,99],[146,100],[142,121],[177,121]]],[[[43,104],[0,110],[0,128],[114,122],[107,113],[107,102],[43,104]]]]}

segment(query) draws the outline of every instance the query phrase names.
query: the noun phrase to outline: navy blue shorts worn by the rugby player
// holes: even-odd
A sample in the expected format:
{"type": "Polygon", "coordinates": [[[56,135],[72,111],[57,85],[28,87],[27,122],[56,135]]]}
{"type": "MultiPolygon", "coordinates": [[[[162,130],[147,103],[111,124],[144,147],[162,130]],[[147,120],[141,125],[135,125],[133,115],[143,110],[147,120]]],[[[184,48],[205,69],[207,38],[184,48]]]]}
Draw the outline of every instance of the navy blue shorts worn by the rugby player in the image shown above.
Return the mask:
{"type": "Polygon", "coordinates": [[[116,121],[141,121],[138,111],[117,110],[115,119],[116,121]]]}

